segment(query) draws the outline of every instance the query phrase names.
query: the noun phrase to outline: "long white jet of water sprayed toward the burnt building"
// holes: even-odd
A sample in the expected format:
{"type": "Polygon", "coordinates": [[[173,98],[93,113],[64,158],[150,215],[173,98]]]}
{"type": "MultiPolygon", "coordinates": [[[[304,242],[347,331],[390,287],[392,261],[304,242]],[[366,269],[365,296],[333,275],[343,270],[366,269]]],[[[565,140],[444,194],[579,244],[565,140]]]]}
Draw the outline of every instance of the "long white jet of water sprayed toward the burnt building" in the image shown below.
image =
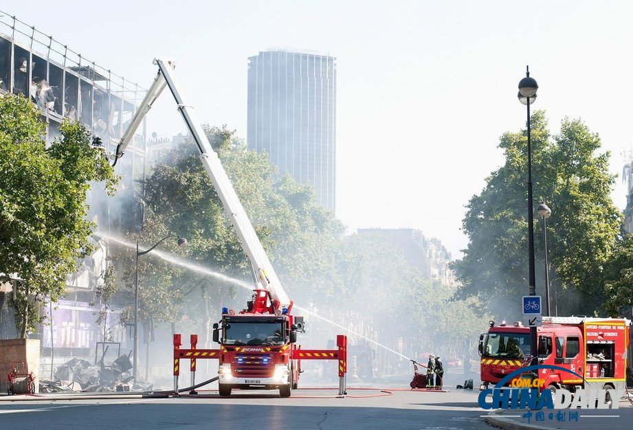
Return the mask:
{"type": "MultiPolygon", "coordinates": [[[[97,231],[98,236],[102,236],[103,238],[107,238],[109,240],[113,240],[114,242],[117,242],[120,245],[123,245],[124,247],[128,247],[130,249],[136,249],[136,244],[132,243],[132,242],[128,242],[126,240],[123,240],[122,238],[117,238],[115,236],[111,236],[109,234],[105,234],[102,233],[100,231],[97,231]]],[[[227,275],[223,275],[222,273],[218,273],[216,271],[212,271],[211,269],[207,269],[206,267],[201,267],[199,264],[193,264],[187,260],[184,260],[184,258],[179,258],[177,256],[173,256],[172,254],[168,253],[168,252],[164,252],[164,251],[159,251],[157,249],[152,251],[152,255],[157,256],[158,258],[161,258],[162,260],[165,260],[166,262],[170,262],[172,264],[175,264],[178,267],[182,267],[184,269],[188,269],[190,271],[195,271],[197,273],[201,273],[203,275],[208,275],[212,278],[216,278],[218,280],[221,280],[223,282],[227,282],[228,284],[233,284],[236,286],[241,286],[242,288],[246,288],[249,291],[253,291],[253,285],[249,284],[248,282],[242,281],[242,280],[238,280],[236,278],[231,278],[230,276],[227,275]]],[[[369,337],[366,337],[364,335],[361,335],[358,332],[355,332],[354,330],[350,330],[349,328],[346,328],[344,326],[341,326],[340,324],[335,323],[334,321],[332,321],[331,319],[327,319],[326,317],[322,317],[321,315],[318,315],[317,313],[314,313],[311,310],[308,310],[306,308],[302,308],[301,306],[294,306],[295,308],[301,310],[304,313],[307,313],[315,318],[318,318],[322,321],[325,321],[328,324],[331,324],[337,328],[340,328],[342,330],[345,330],[346,332],[348,332],[350,335],[353,336],[357,336],[357,337],[361,337],[362,339],[365,339],[366,341],[373,343],[375,346],[379,346],[380,348],[383,348],[384,350],[387,350],[389,352],[393,352],[394,354],[399,355],[400,357],[402,357],[403,359],[407,359],[408,361],[413,361],[410,357],[407,357],[406,355],[401,354],[400,352],[397,352],[396,350],[392,350],[391,348],[388,348],[387,346],[384,346],[383,344],[370,339],[369,337]]]]}

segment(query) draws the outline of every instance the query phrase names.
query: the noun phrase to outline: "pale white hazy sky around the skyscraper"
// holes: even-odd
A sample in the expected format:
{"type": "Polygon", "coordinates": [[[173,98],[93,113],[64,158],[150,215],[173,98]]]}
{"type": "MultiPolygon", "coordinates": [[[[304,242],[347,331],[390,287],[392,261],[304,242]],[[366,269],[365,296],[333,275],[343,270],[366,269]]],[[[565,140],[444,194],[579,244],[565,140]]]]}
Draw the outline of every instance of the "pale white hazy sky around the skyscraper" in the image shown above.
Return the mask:
{"type": "MultiPolygon", "coordinates": [[[[337,58],[337,216],[351,228],[414,227],[458,256],[468,199],[524,126],[517,85],[554,133],[581,117],[621,172],[631,148],[630,1],[1,1],[90,60],[148,87],[178,62],[203,122],[246,137],[247,58],[269,47],[337,58]]],[[[4,27],[1,32],[7,32],[4,27]]],[[[148,131],[184,131],[164,95],[148,131]]],[[[612,194],[623,209],[621,179],[612,194]]],[[[556,202],[548,202],[556,216],[556,202]]]]}

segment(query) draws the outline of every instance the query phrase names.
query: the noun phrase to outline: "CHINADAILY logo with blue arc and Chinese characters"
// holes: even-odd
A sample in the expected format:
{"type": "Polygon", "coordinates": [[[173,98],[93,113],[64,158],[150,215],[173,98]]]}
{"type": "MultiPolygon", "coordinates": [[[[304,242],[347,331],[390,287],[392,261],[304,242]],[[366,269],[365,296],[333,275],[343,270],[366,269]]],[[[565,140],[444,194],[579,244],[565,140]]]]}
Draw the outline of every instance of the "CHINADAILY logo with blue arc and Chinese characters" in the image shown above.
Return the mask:
{"type": "Polygon", "coordinates": [[[590,387],[585,378],[564,367],[532,365],[507,374],[492,389],[482,389],[478,403],[486,410],[528,409],[522,414],[528,422],[546,419],[577,421],[578,409],[618,409],[617,399],[623,395],[623,391],[613,388],[590,387]],[[554,394],[545,387],[545,381],[536,376],[548,371],[566,372],[574,379],[584,381],[586,388],[577,388],[574,392],[556,389],[554,394]]]}

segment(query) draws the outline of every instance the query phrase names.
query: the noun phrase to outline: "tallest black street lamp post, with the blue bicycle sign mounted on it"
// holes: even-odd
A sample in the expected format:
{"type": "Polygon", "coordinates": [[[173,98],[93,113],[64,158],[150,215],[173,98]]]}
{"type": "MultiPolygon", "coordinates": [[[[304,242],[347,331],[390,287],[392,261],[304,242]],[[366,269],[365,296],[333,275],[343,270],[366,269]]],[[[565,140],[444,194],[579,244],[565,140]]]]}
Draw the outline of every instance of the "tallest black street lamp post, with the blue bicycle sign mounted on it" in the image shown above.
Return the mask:
{"type": "MultiPolygon", "coordinates": [[[[536,282],[534,274],[534,220],[533,220],[533,198],[532,198],[532,143],[530,131],[530,104],[536,100],[538,84],[534,78],[530,77],[529,66],[526,67],[525,78],[519,82],[518,98],[522,104],[527,106],[527,137],[528,137],[528,260],[529,260],[529,295],[536,295],[536,282]]],[[[533,361],[537,360],[537,339],[536,327],[530,327],[530,350],[533,361]]]]}

